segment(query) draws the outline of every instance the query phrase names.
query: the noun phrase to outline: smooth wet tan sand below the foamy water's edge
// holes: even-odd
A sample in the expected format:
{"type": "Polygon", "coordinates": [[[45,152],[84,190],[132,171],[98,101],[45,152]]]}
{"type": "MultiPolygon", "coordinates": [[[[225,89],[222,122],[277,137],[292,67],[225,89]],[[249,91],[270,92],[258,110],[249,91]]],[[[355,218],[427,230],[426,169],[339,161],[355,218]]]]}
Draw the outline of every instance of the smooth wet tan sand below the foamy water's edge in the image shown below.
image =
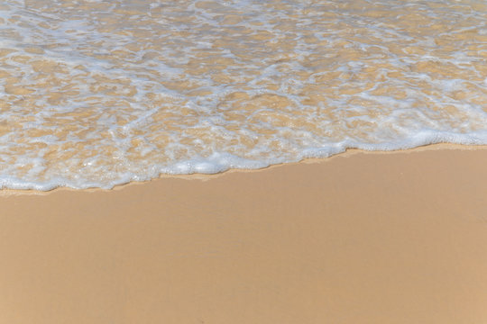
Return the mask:
{"type": "Polygon", "coordinates": [[[487,322],[487,148],[3,192],[0,323],[487,322]]]}

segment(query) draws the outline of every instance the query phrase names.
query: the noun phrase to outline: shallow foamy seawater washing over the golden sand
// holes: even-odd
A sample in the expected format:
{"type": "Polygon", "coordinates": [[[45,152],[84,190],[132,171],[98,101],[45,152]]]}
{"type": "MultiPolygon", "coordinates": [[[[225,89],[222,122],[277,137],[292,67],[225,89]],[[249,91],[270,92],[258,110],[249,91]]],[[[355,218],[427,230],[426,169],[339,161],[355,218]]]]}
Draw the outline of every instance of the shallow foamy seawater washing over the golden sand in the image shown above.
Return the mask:
{"type": "Polygon", "coordinates": [[[0,186],[487,144],[487,3],[4,0],[0,186]]]}

